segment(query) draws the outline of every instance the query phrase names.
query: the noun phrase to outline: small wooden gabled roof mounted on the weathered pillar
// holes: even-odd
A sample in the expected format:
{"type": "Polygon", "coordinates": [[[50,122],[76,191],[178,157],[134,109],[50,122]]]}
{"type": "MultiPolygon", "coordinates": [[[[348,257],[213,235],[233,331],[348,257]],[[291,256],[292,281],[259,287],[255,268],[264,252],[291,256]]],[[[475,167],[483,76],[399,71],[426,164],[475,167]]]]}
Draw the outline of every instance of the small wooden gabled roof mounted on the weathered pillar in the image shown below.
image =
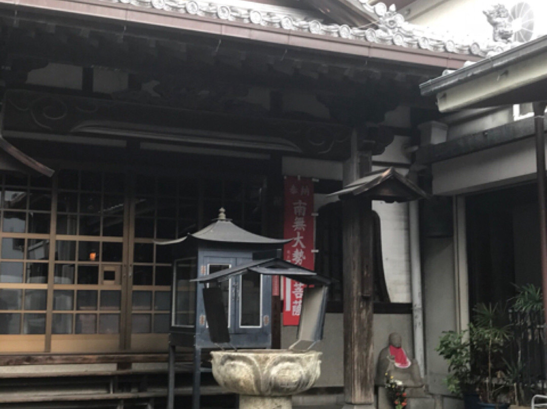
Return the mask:
{"type": "Polygon", "coordinates": [[[366,196],[371,200],[386,202],[408,202],[429,197],[426,192],[393,167],[370,172],[329,196],[338,196],[341,199],[348,196],[366,196]]]}

